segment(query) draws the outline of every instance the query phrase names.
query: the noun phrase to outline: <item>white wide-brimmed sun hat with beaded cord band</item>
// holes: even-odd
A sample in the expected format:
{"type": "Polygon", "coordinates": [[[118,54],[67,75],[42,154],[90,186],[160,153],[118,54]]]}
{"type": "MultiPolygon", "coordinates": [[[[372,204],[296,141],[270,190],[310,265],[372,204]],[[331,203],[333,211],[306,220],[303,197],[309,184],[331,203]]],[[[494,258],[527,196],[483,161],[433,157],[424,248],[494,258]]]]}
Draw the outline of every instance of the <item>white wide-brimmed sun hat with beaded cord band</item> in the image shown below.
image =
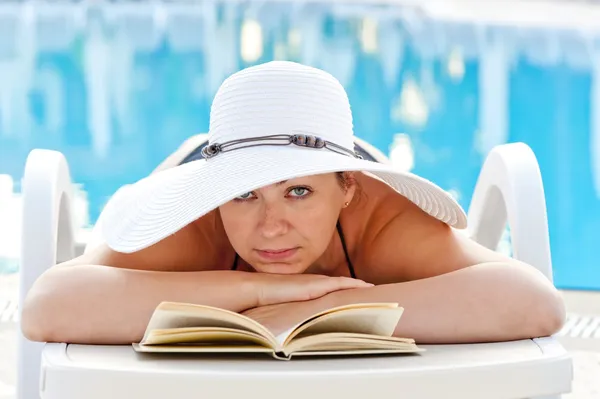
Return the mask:
{"type": "Polygon", "coordinates": [[[215,95],[203,159],[127,187],[103,211],[103,236],[135,252],[177,232],[244,193],[296,177],[362,171],[383,180],[429,215],[465,228],[444,190],[355,152],[352,113],[342,85],[305,65],[273,61],[227,78],[215,95]]]}

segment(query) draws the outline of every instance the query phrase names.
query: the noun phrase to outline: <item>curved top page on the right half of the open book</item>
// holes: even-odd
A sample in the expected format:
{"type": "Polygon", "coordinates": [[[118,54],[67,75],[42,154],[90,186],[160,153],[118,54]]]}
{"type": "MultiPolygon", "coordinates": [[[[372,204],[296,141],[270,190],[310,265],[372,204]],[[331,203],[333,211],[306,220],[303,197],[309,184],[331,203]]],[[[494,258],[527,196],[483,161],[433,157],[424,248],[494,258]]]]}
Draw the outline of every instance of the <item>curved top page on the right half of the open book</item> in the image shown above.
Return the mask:
{"type": "Polygon", "coordinates": [[[300,325],[286,337],[283,346],[287,346],[296,337],[334,332],[391,337],[403,312],[404,308],[397,305],[339,309],[300,325]]]}

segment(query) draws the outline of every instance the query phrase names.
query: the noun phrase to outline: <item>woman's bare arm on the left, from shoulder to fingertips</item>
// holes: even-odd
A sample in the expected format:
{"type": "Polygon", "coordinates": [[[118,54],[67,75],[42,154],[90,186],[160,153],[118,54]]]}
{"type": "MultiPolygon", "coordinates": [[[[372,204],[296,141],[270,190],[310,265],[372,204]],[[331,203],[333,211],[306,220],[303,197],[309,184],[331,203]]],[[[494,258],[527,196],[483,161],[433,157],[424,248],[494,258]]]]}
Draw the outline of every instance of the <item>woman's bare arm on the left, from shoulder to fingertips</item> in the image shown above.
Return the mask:
{"type": "Polygon", "coordinates": [[[344,277],[222,270],[231,264],[228,258],[233,254],[209,245],[194,231],[192,226],[185,227],[131,254],[114,252],[102,244],[50,268],[27,293],[21,317],[23,333],[42,342],[129,344],[139,342],[162,301],[241,312],[369,286],[344,277]]]}

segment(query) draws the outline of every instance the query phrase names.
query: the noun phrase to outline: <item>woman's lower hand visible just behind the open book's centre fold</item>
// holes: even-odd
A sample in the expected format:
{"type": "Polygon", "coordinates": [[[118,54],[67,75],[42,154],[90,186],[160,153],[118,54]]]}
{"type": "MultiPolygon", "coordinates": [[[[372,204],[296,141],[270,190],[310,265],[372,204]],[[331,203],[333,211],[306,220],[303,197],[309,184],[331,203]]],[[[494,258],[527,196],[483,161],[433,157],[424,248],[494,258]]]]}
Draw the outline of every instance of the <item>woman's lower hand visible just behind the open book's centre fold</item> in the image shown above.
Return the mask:
{"type": "Polygon", "coordinates": [[[326,301],[318,298],[303,302],[261,306],[246,310],[242,314],[262,324],[277,336],[327,308],[326,301]]]}

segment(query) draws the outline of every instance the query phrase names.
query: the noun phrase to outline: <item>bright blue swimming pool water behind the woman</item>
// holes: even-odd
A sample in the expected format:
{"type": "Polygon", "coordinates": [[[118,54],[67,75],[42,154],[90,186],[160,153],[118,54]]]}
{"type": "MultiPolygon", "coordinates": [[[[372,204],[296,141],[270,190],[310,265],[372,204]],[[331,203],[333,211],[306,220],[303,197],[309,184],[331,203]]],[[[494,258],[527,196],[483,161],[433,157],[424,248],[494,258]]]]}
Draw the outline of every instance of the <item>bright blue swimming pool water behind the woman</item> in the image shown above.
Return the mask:
{"type": "Polygon", "coordinates": [[[359,137],[387,153],[406,134],[413,172],[465,208],[489,148],[529,144],[546,188],[556,284],[600,289],[599,68],[584,36],[450,24],[399,7],[143,7],[90,9],[83,23],[67,6],[40,9],[34,23],[0,14],[0,173],[18,181],[31,149],[62,151],[93,221],[120,185],[208,129],[226,76],[300,61],[340,79],[359,137]]]}

